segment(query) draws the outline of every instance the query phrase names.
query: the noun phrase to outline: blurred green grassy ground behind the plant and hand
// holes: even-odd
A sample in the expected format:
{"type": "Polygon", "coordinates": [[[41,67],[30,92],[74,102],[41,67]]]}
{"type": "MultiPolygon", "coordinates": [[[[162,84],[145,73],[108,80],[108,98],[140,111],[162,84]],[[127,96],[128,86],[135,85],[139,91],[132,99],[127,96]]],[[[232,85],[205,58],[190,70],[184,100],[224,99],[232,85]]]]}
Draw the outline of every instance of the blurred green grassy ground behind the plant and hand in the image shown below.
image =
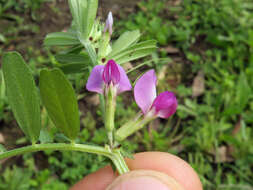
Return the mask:
{"type": "MultiPolygon", "coordinates": [[[[140,29],[143,39],[158,41],[159,49],[149,58],[153,62],[142,71],[155,68],[158,91],[174,91],[179,101],[173,118],[155,120],[124,147],[130,152],[176,154],[197,171],[204,189],[252,190],[252,0],[100,1],[102,20],[110,10],[115,20],[113,38],[140,29]],[[161,63],[158,58],[170,61],[161,63]]],[[[58,51],[43,47],[45,35],[63,31],[70,23],[64,0],[0,0],[0,55],[21,52],[37,78],[41,68],[52,66],[58,51]]],[[[10,112],[1,74],[0,69],[0,151],[28,144],[10,112]]],[[[69,79],[79,98],[79,141],[104,144],[99,100],[85,90],[87,76],[69,79]]],[[[137,111],[131,93],[118,97],[117,125],[137,111]]],[[[57,133],[44,110],[42,118],[44,128],[57,133]]],[[[103,157],[50,151],[1,160],[0,190],[65,190],[106,164],[103,157]]]]}

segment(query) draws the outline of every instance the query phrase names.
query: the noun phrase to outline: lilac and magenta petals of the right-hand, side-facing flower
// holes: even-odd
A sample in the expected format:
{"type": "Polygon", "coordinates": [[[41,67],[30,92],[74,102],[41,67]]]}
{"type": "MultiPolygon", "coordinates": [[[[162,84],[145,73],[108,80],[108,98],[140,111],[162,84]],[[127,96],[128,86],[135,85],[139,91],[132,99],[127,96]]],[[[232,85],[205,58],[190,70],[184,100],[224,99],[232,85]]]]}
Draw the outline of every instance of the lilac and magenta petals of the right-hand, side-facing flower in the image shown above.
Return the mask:
{"type": "Polygon", "coordinates": [[[156,96],[157,78],[154,70],[142,75],[134,87],[134,98],[144,115],[168,118],[176,112],[177,99],[173,92],[156,96]]]}

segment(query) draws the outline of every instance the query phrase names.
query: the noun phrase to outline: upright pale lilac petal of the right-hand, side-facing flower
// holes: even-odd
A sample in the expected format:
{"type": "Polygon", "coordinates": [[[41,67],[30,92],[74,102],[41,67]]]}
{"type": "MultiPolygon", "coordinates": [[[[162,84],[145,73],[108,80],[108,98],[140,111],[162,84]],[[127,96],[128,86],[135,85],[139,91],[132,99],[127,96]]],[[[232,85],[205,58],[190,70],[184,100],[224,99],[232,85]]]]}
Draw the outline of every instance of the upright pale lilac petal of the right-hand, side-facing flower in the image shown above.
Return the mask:
{"type": "Polygon", "coordinates": [[[134,87],[134,98],[145,114],[151,108],[156,97],[156,75],[152,69],[142,75],[134,87]]]}

